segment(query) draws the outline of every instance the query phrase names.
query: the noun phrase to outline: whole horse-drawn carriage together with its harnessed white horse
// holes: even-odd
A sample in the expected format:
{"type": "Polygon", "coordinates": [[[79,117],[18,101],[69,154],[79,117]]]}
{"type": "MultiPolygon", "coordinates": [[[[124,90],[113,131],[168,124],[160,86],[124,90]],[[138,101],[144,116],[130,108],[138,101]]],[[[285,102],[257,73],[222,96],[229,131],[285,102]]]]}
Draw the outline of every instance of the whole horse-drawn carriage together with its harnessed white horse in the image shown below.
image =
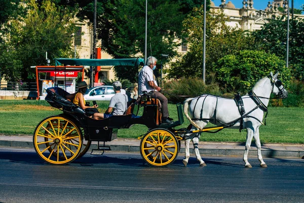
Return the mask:
{"type": "MultiPolygon", "coordinates": [[[[111,65],[138,65],[138,59],[120,59],[111,65]]],[[[77,65],[106,65],[102,59],[57,59],[57,62],[77,65]]],[[[108,62],[108,61],[107,61],[108,62]]],[[[61,109],[62,114],[51,116],[41,121],[33,136],[34,148],[39,156],[52,164],[66,164],[82,157],[90,148],[92,141],[98,142],[98,150],[105,150],[105,142],[117,138],[117,131],[130,128],[133,124],[143,124],[148,132],[140,137],[140,154],[144,161],[153,166],[166,166],[177,157],[180,141],[185,140],[186,166],[189,158],[189,142],[194,143],[195,153],[200,165],[206,165],[202,160],[198,142],[200,133],[210,130],[221,130],[226,127],[247,129],[247,140],[243,160],[245,167],[251,167],[247,160],[248,150],[254,138],[257,146],[258,160],[262,167],[267,167],[261,156],[259,126],[267,112],[271,93],[277,98],[286,98],[287,91],[278,80],[278,73],[260,79],[252,90],[238,99],[222,98],[215,95],[200,95],[185,100],[183,111],[177,104],[178,121],[172,124],[161,122],[161,108],[158,99],[142,95],[128,107],[126,114],[111,116],[102,120],[94,120],[86,116],[83,109],[66,99],[68,93],[63,89],[53,87],[47,90],[46,100],[52,107],[61,109]],[[138,116],[139,108],[143,113],[138,116]],[[134,111],[136,109],[136,111],[134,111]],[[135,113],[137,112],[137,113],[135,113]],[[192,115],[192,118],[189,117],[192,115]],[[186,128],[175,129],[183,123],[183,113],[191,124],[186,128]],[[205,127],[208,122],[214,127],[205,127]],[[99,146],[103,142],[103,146],[99,146]]],[[[215,131],[215,132],[216,132],[215,131]]],[[[212,131],[210,131],[212,132],[212,131]]]]}

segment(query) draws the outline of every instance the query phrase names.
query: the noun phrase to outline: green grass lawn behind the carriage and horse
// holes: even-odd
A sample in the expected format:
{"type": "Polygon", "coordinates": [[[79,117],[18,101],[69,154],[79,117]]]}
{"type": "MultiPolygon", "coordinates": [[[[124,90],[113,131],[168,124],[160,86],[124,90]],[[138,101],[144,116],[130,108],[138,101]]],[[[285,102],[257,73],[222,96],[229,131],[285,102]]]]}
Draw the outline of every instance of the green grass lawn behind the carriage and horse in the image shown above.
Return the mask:
{"type": "MultiPolygon", "coordinates": [[[[97,101],[99,111],[107,109],[108,101],[97,101]]],[[[170,117],[177,120],[176,106],[169,104],[170,117]]],[[[3,134],[33,134],[36,125],[44,118],[60,114],[61,111],[52,108],[44,100],[0,100],[0,133],[3,134]]],[[[187,127],[189,121],[181,127],[187,127]]],[[[304,143],[303,133],[304,108],[270,107],[267,125],[260,127],[262,143],[304,143]]],[[[211,125],[207,125],[211,126],[211,125]]],[[[120,129],[118,137],[137,138],[145,134],[147,128],[134,125],[130,129],[120,129]]],[[[201,141],[207,142],[245,142],[246,130],[223,129],[217,133],[203,132],[201,141]]]]}

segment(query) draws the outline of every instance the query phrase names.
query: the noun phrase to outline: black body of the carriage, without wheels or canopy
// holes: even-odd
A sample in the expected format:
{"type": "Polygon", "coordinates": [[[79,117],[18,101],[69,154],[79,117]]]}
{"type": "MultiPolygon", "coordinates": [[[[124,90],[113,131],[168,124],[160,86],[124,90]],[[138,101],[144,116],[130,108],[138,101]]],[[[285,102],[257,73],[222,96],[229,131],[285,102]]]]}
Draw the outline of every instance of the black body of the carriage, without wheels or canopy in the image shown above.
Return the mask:
{"type": "MultiPolygon", "coordinates": [[[[86,116],[85,111],[67,100],[65,97],[69,94],[59,87],[51,87],[47,89],[48,95],[46,100],[54,107],[61,109],[63,114],[60,116],[72,120],[80,128],[84,129],[84,138],[87,141],[108,142],[117,138],[118,129],[129,128],[133,124],[142,124],[149,129],[154,128],[172,128],[183,123],[181,105],[177,105],[179,121],[172,124],[161,123],[161,110],[157,100],[151,99],[150,102],[143,102],[140,99],[136,100],[138,108],[143,107],[142,116],[133,114],[135,103],[129,106],[129,114],[111,116],[106,119],[92,119],[86,116]]],[[[127,111],[128,112],[128,111],[127,111]]]]}

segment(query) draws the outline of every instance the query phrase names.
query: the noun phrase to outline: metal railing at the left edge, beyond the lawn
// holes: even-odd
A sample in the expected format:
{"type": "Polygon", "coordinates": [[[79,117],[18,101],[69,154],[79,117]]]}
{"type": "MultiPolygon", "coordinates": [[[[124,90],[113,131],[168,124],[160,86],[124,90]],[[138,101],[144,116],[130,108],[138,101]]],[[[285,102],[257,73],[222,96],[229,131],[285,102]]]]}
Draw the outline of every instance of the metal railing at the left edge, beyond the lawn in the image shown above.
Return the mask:
{"type": "Polygon", "coordinates": [[[35,82],[0,82],[0,90],[37,91],[35,82]]]}

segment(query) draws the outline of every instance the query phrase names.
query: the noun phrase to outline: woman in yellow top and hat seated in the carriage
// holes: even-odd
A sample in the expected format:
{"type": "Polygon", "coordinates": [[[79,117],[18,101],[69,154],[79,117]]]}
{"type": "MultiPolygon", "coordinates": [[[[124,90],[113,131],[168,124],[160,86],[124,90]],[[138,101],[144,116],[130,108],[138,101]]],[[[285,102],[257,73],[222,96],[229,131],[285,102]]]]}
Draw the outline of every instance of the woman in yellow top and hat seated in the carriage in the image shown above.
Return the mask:
{"type": "Polygon", "coordinates": [[[84,94],[86,93],[88,89],[88,85],[85,81],[81,81],[78,83],[78,91],[75,94],[75,97],[73,99],[73,103],[75,105],[80,106],[83,110],[85,110],[86,115],[92,116],[93,119],[102,119],[103,118],[103,113],[99,113],[97,108],[98,105],[94,105],[93,107],[88,107],[86,106],[86,101],[84,98],[84,94]],[[89,108],[96,109],[95,112],[89,111],[89,108]],[[86,111],[87,110],[87,111],[86,111]]]}

